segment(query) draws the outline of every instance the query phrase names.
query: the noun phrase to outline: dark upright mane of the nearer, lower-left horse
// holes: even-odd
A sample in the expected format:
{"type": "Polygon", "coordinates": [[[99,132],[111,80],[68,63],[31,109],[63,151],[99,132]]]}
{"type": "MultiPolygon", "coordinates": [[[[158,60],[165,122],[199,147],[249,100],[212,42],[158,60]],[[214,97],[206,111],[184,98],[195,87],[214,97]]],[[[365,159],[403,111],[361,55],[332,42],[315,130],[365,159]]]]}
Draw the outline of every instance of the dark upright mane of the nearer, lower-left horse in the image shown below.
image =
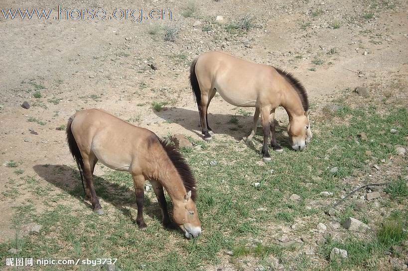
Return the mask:
{"type": "Polygon", "coordinates": [[[191,199],[195,202],[197,192],[196,192],[196,182],[193,174],[191,173],[190,167],[187,165],[184,157],[178,152],[176,147],[171,144],[168,140],[163,140],[159,138],[161,146],[167,153],[174,167],[177,169],[178,174],[183,180],[184,187],[187,192],[191,191],[191,199]]]}

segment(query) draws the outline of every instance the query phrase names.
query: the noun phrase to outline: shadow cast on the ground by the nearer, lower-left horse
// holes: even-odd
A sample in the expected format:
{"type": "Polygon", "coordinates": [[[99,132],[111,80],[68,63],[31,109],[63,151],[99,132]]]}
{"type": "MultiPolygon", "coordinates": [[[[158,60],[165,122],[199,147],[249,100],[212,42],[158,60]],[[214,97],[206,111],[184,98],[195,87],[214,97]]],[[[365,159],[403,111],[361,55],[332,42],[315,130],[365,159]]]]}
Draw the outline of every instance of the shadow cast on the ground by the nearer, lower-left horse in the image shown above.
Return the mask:
{"type": "MultiPolygon", "coordinates": [[[[45,181],[55,185],[56,187],[67,191],[75,197],[80,204],[85,204],[92,210],[92,205],[85,199],[85,192],[81,184],[79,171],[65,165],[35,165],[34,171],[39,177],[45,181]]],[[[84,180],[85,182],[85,180],[84,180]]],[[[135,191],[129,189],[126,185],[119,185],[115,182],[110,182],[104,178],[94,176],[95,192],[99,198],[105,202],[111,203],[115,208],[120,210],[125,216],[136,225],[136,220],[133,218],[130,208],[136,209],[135,191]]],[[[171,217],[172,203],[168,202],[169,215],[171,217]]],[[[102,206],[103,208],[104,206],[102,206]]],[[[152,204],[150,198],[144,195],[143,215],[161,221],[161,209],[157,202],[152,204]]],[[[176,225],[172,224],[167,227],[167,230],[176,230],[176,225]]],[[[181,233],[181,232],[180,232],[181,233]]]]}

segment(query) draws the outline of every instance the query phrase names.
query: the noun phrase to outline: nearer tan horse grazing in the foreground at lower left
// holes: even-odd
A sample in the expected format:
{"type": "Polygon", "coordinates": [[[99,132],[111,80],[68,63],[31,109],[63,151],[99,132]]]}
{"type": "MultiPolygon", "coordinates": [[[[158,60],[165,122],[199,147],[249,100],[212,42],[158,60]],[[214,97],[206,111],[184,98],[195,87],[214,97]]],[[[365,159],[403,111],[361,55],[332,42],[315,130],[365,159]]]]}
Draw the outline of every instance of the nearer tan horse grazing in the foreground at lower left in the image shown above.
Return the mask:
{"type": "Polygon", "coordinates": [[[196,181],[181,154],[174,146],[153,132],[133,126],[100,109],[83,110],[70,117],[67,141],[75,158],[86,195],[94,211],[103,214],[93,184],[97,161],[118,171],[132,174],[136,191],[137,218],[143,220],[144,180],[150,181],[162,212],[162,223],[170,223],[163,187],[173,202],[174,222],[187,238],[201,234],[201,224],[195,205],[196,181]]]}

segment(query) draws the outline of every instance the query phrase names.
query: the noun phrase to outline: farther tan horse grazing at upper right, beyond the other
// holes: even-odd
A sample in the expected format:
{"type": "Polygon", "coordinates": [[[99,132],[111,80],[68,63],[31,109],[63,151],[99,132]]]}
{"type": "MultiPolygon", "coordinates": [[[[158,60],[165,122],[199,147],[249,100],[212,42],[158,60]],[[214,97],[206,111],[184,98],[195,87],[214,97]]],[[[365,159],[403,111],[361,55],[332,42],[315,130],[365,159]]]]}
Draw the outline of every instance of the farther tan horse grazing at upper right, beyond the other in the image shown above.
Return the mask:
{"type": "Polygon", "coordinates": [[[254,125],[248,139],[257,131],[259,115],[264,132],[263,158],[270,161],[268,137],[275,151],[282,151],[275,138],[274,113],[283,106],[289,116],[287,132],[294,150],[303,150],[312,138],[306,91],[291,74],[272,66],[256,64],[223,52],[207,52],[191,64],[190,84],[200,113],[204,139],[211,139],[207,109],[216,91],[236,106],[256,107],[254,125]]]}

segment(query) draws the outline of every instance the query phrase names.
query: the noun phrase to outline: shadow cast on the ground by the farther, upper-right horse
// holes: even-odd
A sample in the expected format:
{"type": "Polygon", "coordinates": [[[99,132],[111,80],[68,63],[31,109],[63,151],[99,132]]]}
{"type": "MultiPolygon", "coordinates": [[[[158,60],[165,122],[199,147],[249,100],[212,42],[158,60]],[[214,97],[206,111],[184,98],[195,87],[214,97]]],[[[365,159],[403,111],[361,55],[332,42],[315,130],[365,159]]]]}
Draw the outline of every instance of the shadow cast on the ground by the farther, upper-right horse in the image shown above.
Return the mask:
{"type": "MultiPolygon", "coordinates": [[[[198,111],[178,107],[167,107],[167,110],[155,111],[154,113],[158,117],[177,123],[184,129],[192,131],[203,138],[198,111]]],[[[240,141],[251,133],[254,123],[253,117],[252,113],[248,116],[208,113],[208,124],[214,132],[214,137],[217,137],[217,134],[227,134],[232,136],[235,140],[240,141]],[[234,116],[236,118],[234,118],[234,116]],[[238,119],[238,121],[233,122],[233,119],[238,119]]],[[[283,135],[284,131],[286,131],[286,127],[279,125],[275,120],[275,136],[278,144],[291,149],[287,136],[283,135]]],[[[253,140],[263,144],[263,128],[260,121],[258,121],[257,135],[261,137],[254,137],[253,140]]],[[[256,150],[251,144],[248,146],[256,150]]]]}

